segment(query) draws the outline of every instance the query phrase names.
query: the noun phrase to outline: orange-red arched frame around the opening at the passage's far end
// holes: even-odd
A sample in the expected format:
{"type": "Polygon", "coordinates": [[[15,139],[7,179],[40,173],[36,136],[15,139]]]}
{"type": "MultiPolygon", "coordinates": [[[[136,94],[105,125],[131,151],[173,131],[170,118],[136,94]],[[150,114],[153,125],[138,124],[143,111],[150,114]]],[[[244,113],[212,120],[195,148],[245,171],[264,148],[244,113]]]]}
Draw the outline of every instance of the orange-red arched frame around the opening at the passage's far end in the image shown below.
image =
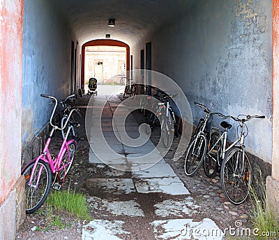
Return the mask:
{"type": "Polygon", "coordinates": [[[84,62],[85,62],[85,48],[90,46],[96,46],[96,45],[106,45],[106,46],[115,46],[115,47],[124,47],[126,48],[126,71],[130,71],[130,47],[128,44],[123,43],[121,41],[117,40],[111,40],[111,39],[96,39],[89,41],[87,43],[84,43],[82,45],[82,69],[81,69],[81,88],[82,92],[84,93],[84,62]]]}

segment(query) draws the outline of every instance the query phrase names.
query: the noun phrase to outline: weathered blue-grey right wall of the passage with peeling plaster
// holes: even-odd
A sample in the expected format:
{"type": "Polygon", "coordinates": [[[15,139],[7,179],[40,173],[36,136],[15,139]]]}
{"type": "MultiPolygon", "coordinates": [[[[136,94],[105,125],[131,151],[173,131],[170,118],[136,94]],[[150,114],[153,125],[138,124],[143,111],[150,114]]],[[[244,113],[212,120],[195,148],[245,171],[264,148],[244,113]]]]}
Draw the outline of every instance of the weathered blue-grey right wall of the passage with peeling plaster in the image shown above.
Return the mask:
{"type": "MultiPolygon", "coordinates": [[[[181,9],[182,10],[182,9],[181,9]]],[[[152,69],[174,79],[186,93],[194,123],[213,111],[266,115],[248,122],[247,150],[271,162],[272,1],[189,1],[183,17],[133,46],[134,69],[140,50],[152,43],[152,69]]],[[[214,125],[218,125],[216,120],[214,125]]],[[[229,139],[236,138],[236,126],[229,139]]]]}

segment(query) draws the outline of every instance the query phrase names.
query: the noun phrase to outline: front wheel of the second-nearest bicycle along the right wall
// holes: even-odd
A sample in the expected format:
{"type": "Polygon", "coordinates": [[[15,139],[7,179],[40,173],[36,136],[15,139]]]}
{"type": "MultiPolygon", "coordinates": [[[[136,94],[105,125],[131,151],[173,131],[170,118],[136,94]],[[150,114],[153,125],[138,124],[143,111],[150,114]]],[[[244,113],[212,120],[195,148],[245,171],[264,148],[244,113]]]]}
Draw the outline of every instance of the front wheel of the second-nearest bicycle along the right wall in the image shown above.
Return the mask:
{"type": "Polygon", "coordinates": [[[200,134],[193,141],[190,142],[185,163],[184,171],[187,176],[193,176],[199,169],[206,154],[206,137],[200,134]]]}

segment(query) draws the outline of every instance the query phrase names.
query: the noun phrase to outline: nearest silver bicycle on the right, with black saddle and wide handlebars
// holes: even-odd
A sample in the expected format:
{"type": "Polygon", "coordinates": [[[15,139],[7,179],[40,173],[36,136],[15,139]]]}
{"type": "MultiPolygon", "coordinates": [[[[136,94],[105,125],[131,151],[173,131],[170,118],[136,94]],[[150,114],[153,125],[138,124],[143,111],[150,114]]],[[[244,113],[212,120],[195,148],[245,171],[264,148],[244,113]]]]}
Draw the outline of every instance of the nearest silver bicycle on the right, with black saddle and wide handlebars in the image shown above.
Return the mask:
{"type": "MultiPolygon", "coordinates": [[[[239,138],[227,147],[227,130],[230,129],[232,125],[227,122],[221,122],[221,126],[225,131],[218,139],[218,141],[223,139],[223,150],[220,152],[220,157],[223,160],[220,180],[223,192],[227,199],[229,199],[229,202],[241,204],[248,197],[250,185],[252,183],[252,167],[244,144],[244,140],[248,135],[246,122],[252,118],[265,118],[265,116],[238,115],[237,118],[234,118],[229,115],[227,118],[232,118],[239,123],[238,129],[240,128],[240,134],[238,134],[239,138]]],[[[218,141],[216,143],[218,143],[218,141]]]]}

